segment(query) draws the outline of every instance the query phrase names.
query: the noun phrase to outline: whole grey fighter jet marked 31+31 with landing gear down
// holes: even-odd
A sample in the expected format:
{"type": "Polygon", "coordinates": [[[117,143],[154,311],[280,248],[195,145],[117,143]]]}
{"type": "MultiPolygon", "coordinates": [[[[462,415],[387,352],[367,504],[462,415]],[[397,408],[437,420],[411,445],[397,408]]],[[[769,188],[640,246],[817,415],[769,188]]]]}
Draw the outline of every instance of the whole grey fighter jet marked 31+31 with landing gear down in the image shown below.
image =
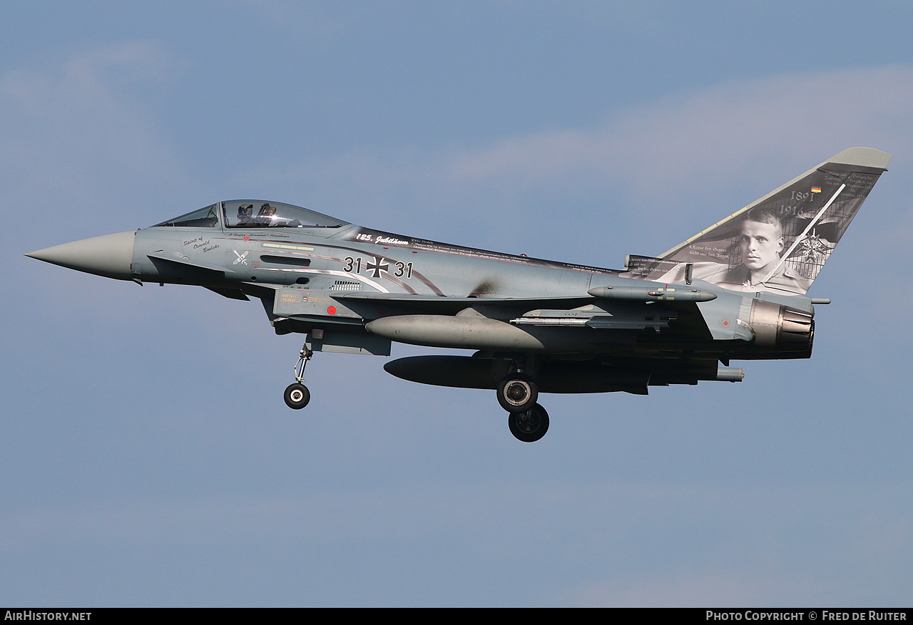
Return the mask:
{"type": "Polygon", "coordinates": [[[259,299],[277,334],[306,335],[285,402],[304,408],[315,352],[389,356],[391,342],[470,349],[395,359],[424,384],[495,391],[520,441],[540,393],[742,380],[730,360],[812,354],[806,293],[891,155],[836,154],[664,254],[624,269],[448,245],[286,203],[216,202],[135,232],[26,254],[89,274],[259,299]]]}

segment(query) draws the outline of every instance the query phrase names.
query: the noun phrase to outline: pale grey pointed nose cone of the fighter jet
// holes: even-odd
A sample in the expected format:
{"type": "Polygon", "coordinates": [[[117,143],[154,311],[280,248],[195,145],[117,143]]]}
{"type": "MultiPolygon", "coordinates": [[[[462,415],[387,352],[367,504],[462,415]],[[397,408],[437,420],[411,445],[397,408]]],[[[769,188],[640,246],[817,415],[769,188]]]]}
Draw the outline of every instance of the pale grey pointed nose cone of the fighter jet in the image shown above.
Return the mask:
{"type": "Polygon", "coordinates": [[[104,234],[26,254],[46,263],[85,271],[97,276],[130,280],[133,262],[133,232],[104,234]]]}

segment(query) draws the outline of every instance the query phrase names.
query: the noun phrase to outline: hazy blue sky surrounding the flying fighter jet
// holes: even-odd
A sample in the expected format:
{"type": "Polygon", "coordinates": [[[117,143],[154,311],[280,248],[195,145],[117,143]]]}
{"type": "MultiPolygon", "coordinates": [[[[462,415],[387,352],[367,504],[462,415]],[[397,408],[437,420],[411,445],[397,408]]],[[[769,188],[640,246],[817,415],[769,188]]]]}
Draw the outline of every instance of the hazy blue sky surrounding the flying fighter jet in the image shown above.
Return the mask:
{"type": "MultiPolygon", "coordinates": [[[[908,605],[908,3],[10,3],[0,602],[908,605]],[[256,303],[22,256],[261,197],[618,267],[846,147],[895,154],[812,359],[543,396],[319,354],[256,303]]],[[[394,356],[430,353],[394,347],[394,356]]]]}

